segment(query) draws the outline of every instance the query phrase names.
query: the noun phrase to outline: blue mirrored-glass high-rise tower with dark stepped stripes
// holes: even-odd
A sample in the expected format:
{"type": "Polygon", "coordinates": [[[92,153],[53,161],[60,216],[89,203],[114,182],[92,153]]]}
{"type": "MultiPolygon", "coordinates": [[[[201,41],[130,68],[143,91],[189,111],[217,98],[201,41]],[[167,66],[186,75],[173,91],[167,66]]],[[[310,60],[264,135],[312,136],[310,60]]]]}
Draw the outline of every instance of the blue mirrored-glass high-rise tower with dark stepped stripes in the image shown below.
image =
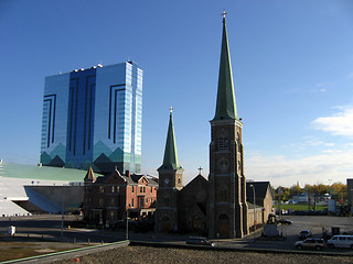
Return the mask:
{"type": "Polygon", "coordinates": [[[140,173],[142,75],[126,62],[46,77],[41,163],[140,173]]]}

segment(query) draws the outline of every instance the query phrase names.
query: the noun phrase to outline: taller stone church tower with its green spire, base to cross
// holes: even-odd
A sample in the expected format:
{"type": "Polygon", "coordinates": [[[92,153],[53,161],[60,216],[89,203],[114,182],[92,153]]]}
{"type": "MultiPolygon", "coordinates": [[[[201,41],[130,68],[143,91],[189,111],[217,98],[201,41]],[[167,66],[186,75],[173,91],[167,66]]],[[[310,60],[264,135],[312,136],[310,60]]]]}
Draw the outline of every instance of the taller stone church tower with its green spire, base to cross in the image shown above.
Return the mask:
{"type": "Polygon", "coordinates": [[[216,114],[211,121],[208,237],[242,238],[248,232],[243,123],[235,103],[223,12],[223,40],[216,114]]]}

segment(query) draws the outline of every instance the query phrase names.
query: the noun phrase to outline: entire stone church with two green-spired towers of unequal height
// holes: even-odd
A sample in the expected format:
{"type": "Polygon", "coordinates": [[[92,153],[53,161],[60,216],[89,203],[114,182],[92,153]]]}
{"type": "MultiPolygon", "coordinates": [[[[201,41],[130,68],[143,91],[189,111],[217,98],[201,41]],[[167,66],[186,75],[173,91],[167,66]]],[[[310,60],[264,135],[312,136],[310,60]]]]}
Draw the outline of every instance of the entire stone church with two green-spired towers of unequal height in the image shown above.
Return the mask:
{"type": "Polygon", "coordinates": [[[216,109],[210,121],[208,179],[200,169],[200,174],[183,186],[172,114],[171,109],[163,164],[158,168],[154,230],[233,239],[243,238],[252,228],[265,223],[271,212],[272,194],[268,182],[246,183],[244,175],[243,122],[236,107],[225,12],[216,109]],[[253,187],[255,191],[256,186],[265,194],[260,207],[256,202],[258,196],[252,200],[253,194],[248,194],[247,198],[246,189],[253,187]]]}

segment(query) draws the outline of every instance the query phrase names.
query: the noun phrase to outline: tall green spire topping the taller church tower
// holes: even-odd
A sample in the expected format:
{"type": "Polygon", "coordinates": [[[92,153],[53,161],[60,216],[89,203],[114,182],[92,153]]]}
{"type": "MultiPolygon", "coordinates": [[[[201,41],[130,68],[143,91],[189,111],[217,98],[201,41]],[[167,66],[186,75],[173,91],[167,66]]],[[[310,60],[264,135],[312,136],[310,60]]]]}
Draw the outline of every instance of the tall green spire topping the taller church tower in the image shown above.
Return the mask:
{"type": "Polygon", "coordinates": [[[223,37],[220,63],[218,91],[216,113],[213,120],[239,120],[236,110],[234,84],[231,64],[231,54],[227,37],[227,28],[225,24],[225,12],[223,12],[223,37]]]}

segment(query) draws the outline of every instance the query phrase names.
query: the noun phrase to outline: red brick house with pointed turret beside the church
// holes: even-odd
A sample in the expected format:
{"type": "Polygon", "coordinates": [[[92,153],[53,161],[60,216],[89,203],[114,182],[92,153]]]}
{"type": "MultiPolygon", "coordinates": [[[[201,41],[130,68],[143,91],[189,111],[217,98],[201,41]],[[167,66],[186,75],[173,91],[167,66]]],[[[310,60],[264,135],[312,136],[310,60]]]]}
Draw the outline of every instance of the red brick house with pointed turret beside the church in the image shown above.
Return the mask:
{"type": "Polygon", "coordinates": [[[113,224],[129,218],[153,221],[158,182],[156,178],[118,170],[95,177],[92,167],[85,176],[83,211],[87,222],[113,224]]]}

